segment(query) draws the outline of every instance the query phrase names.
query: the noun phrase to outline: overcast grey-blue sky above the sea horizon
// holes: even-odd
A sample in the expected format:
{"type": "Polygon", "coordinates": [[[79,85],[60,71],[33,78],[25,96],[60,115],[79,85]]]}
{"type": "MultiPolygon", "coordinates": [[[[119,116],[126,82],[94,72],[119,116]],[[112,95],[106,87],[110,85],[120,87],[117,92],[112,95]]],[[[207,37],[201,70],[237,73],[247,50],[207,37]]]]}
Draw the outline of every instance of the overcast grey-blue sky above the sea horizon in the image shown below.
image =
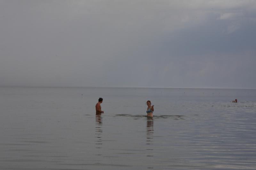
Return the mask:
{"type": "Polygon", "coordinates": [[[256,0],[0,0],[0,85],[256,88],[256,0]]]}

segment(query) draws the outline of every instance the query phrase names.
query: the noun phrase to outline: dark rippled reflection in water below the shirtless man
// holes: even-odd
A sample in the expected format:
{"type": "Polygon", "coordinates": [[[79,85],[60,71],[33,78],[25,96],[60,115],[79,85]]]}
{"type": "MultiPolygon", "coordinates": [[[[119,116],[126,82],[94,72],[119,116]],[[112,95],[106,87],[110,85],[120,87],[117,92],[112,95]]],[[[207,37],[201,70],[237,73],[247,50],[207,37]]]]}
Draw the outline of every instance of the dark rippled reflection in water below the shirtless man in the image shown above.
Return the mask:
{"type": "Polygon", "coordinates": [[[96,148],[102,148],[102,117],[95,115],[95,144],[96,148]]]}

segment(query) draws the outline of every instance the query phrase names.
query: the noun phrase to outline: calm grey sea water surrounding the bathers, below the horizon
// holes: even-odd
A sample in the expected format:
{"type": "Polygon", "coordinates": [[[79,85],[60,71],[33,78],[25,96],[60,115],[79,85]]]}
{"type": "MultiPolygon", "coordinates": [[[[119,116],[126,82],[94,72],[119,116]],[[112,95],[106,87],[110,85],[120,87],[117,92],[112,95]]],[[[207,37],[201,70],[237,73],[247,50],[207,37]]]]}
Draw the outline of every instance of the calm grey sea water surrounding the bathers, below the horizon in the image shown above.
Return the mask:
{"type": "Polygon", "coordinates": [[[0,87],[0,108],[1,170],[256,167],[256,89],[0,87]]]}

